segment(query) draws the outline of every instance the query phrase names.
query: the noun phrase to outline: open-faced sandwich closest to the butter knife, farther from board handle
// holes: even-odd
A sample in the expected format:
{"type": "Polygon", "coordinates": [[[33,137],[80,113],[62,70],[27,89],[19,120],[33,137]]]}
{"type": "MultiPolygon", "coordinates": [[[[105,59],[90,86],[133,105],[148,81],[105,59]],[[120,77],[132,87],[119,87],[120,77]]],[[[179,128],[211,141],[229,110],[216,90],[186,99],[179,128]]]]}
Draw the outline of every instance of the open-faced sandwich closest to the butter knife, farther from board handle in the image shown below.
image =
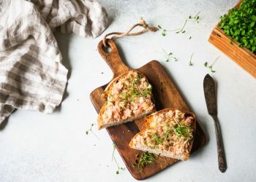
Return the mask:
{"type": "Polygon", "coordinates": [[[187,160],[195,133],[195,114],[166,108],[144,118],[147,128],[132,138],[132,149],[187,160]]]}

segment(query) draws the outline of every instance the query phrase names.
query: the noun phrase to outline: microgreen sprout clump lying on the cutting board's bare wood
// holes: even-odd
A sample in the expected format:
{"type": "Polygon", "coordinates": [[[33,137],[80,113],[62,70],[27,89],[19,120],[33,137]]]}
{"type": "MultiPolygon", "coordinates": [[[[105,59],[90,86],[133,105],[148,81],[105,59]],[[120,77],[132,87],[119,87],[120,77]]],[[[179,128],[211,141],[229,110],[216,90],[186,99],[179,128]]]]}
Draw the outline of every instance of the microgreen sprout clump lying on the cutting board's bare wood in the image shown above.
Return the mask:
{"type": "Polygon", "coordinates": [[[136,159],[132,167],[138,167],[139,172],[141,172],[146,165],[156,162],[157,155],[143,151],[142,154],[136,154],[136,158],[140,159],[136,159]]]}

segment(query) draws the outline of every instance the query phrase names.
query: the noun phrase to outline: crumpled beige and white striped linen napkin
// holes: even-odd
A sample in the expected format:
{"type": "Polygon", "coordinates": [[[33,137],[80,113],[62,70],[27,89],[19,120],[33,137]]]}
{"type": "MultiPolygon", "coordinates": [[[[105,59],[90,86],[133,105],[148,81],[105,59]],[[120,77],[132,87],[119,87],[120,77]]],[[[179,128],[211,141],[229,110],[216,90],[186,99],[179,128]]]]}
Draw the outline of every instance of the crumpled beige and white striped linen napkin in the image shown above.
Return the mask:
{"type": "Polygon", "coordinates": [[[67,84],[52,31],[99,36],[108,16],[97,1],[0,1],[0,123],[15,108],[51,113],[67,84]]]}

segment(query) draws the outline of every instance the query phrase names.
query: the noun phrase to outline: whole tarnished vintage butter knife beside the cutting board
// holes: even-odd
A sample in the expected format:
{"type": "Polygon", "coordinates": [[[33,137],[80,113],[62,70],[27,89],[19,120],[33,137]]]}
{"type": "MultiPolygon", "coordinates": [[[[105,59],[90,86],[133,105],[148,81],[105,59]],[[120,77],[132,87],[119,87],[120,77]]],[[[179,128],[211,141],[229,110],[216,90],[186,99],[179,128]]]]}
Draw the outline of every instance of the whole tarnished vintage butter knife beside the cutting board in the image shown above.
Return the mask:
{"type": "Polygon", "coordinates": [[[227,170],[227,163],[225,159],[225,151],[222,142],[222,134],[219,126],[219,120],[217,117],[217,97],[215,92],[215,82],[214,79],[206,74],[203,79],[203,91],[206,98],[206,106],[208,109],[208,114],[214,119],[214,127],[217,139],[217,151],[218,151],[218,165],[219,170],[224,173],[227,170]]]}

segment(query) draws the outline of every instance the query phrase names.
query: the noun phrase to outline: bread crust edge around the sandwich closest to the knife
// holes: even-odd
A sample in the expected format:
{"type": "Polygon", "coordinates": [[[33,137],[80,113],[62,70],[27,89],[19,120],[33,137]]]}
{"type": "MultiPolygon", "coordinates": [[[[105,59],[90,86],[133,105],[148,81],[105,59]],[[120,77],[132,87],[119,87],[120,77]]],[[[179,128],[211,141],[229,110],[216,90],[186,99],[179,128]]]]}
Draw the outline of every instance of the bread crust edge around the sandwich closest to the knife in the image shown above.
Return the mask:
{"type": "Polygon", "coordinates": [[[196,130],[196,117],[195,117],[195,114],[193,114],[192,112],[189,112],[189,111],[184,111],[184,110],[181,110],[181,109],[177,109],[177,108],[165,108],[165,109],[162,109],[161,111],[157,111],[155,112],[154,114],[151,114],[149,116],[146,116],[142,122],[146,122],[146,129],[144,130],[141,130],[140,132],[138,132],[133,138],[132,140],[129,142],[129,147],[132,148],[132,149],[138,149],[138,150],[142,150],[142,151],[148,151],[150,153],[154,153],[154,154],[159,154],[160,156],[163,156],[163,157],[170,157],[170,158],[175,158],[175,159],[181,159],[181,160],[187,160],[189,159],[189,154],[190,154],[190,151],[192,150],[192,145],[193,145],[193,142],[194,142],[194,138],[195,138],[195,130],[196,130]],[[175,156],[175,155],[172,155],[172,154],[165,154],[166,152],[162,152],[160,151],[159,149],[145,149],[145,147],[143,147],[142,145],[138,146],[138,143],[135,143],[134,142],[134,138],[136,138],[138,135],[141,135],[143,134],[143,132],[146,131],[146,129],[150,128],[150,124],[151,122],[153,122],[153,116],[154,115],[157,115],[157,114],[162,114],[162,113],[165,113],[165,112],[168,112],[168,111],[176,111],[176,110],[179,110],[185,114],[189,114],[190,116],[192,116],[193,118],[193,123],[191,125],[191,128],[193,129],[193,138],[189,141],[189,148],[188,148],[188,151],[189,153],[184,153],[182,154],[181,156],[175,156]]]}

